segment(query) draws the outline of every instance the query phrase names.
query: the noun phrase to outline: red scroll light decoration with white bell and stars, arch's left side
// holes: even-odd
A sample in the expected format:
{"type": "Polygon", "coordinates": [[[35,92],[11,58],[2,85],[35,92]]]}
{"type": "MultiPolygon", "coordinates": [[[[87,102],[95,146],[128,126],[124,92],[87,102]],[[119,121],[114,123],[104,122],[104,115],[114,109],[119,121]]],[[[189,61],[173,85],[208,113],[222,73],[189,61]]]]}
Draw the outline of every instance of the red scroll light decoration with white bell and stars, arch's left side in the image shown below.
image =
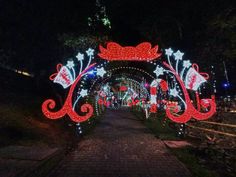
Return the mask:
{"type": "MultiPolygon", "coordinates": [[[[76,110],[76,105],[80,99],[87,96],[87,89],[80,89],[77,93],[77,98],[73,102],[73,93],[80,82],[81,78],[89,73],[96,63],[90,64],[92,59],[94,58],[94,50],[89,48],[86,51],[86,54],[78,53],[76,56],[79,64],[75,65],[73,60],[67,61],[67,64],[63,66],[62,64],[57,65],[57,72],[50,76],[50,80],[54,83],[58,83],[62,85],[64,89],[70,88],[67,98],[63,107],[58,111],[52,111],[56,107],[56,103],[52,99],[46,100],[42,104],[42,112],[49,119],[60,119],[64,117],[66,114],[70,117],[74,122],[83,122],[89,119],[93,115],[93,106],[85,103],[80,107],[80,111],[84,113],[83,116],[79,115],[76,110]],[[84,59],[88,59],[87,66],[83,67],[84,59]],[[78,73],[76,74],[75,67],[78,66],[78,73]]],[[[95,71],[96,72],[96,71],[95,71]]],[[[97,68],[97,76],[103,77],[106,73],[104,68],[97,68]]]]}

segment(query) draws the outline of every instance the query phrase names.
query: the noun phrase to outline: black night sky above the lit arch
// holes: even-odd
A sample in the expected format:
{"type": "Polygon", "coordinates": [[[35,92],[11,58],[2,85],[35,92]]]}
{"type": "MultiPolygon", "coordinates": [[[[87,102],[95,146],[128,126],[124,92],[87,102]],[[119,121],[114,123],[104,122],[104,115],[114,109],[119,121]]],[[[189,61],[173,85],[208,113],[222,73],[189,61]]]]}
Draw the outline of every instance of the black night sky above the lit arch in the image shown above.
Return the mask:
{"type": "MultiPolygon", "coordinates": [[[[95,2],[1,0],[0,62],[33,73],[53,67],[64,56],[59,35],[91,32],[87,19],[98,11],[95,2]]],[[[229,74],[235,73],[235,57],[215,54],[219,52],[219,44],[223,46],[220,46],[222,51],[230,45],[228,38],[225,39],[228,33],[224,35],[224,31],[217,30],[214,33],[209,28],[221,16],[235,17],[233,1],[104,0],[101,3],[111,21],[111,30],[106,30],[111,40],[122,45],[150,41],[162,48],[185,51],[186,57],[205,69],[211,63],[220,67],[217,70],[220,84],[224,82],[222,64],[219,65],[223,58],[228,63],[229,74]]],[[[103,35],[102,29],[97,32],[103,35]]],[[[230,77],[232,85],[236,84],[234,80],[230,77]]]]}

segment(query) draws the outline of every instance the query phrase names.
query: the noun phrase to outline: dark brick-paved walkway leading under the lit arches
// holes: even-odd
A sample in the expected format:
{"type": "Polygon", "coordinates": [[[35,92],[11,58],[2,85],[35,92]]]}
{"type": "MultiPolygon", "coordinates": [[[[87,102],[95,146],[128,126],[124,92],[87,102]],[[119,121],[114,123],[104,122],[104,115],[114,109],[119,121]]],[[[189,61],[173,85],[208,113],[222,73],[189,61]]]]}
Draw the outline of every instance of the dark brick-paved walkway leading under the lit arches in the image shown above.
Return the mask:
{"type": "Polygon", "coordinates": [[[104,119],[50,177],[187,177],[185,166],[163,142],[125,110],[104,119]]]}

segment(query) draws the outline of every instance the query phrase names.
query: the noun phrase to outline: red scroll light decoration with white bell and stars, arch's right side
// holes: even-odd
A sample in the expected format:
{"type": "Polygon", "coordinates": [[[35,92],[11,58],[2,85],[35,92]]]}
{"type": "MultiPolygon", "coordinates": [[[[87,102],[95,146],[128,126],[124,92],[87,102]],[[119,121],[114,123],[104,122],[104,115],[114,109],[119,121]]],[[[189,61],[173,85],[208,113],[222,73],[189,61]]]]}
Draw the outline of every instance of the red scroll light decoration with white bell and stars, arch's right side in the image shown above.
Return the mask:
{"type": "MultiPolygon", "coordinates": [[[[197,100],[198,108],[193,106],[187,89],[195,91],[196,98],[199,99],[197,90],[209,78],[208,74],[200,73],[197,64],[191,64],[189,60],[182,61],[184,53],[179,50],[173,53],[171,48],[165,50],[168,63],[163,62],[162,66],[157,66],[154,73],[157,77],[164,74],[172,75],[174,80],[171,88],[169,88],[169,95],[177,98],[184,106],[184,110],[174,109],[171,111],[170,105],[166,105],[167,117],[177,123],[185,123],[191,118],[197,120],[205,120],[210,118],[216,112],[215,98],[212,95],[211,99],[197,100]],[[173,58],[174,56],[174,58],[173,58]],[[171,60],[172,59],[172,60],[171,60]],[[181,62],[182,61],[182,62],[181,62]],[[175,67],[172,64],[175,63],[175,67]],[[192,66],[192,67],[191,67],[192,66]],[[179,71],[179,69],[181,69],[179,71]],[[179,85],[179,86],[177,86],[179,85]],[[183,93],[183,95],[181,95],[183,93]],[[201,110],[205,111],[201,111],[201,110]]],[[[178,106],[178,105],[176,105],[178,106]]]]}

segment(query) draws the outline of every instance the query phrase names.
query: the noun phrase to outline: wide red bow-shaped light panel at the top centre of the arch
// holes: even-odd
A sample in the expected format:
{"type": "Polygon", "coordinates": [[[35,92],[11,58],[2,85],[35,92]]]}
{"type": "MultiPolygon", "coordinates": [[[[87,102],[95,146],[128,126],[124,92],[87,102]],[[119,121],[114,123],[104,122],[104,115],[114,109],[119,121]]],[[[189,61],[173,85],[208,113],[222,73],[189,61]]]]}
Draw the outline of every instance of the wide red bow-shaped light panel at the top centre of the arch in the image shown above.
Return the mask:
{"type": "Polygon", "coordinates": [[[122,47],[115,42],[109,42],[107,49],[99,46],[99,57],[105,60],[128,60],[128,61],[146,61],[154,60],[161,56],[161,53],[157,53],[158,45],[152,48],[149,42],[143,42],[136,47],[122,47]]]}

